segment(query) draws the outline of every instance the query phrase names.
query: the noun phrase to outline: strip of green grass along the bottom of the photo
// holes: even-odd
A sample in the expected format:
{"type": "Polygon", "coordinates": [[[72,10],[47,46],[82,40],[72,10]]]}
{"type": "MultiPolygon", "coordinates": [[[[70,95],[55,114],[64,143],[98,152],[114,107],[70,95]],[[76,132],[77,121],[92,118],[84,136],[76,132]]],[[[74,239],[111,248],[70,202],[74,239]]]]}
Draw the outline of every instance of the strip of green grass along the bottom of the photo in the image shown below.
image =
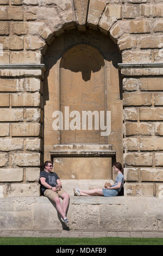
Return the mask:
{"type": "Polygon", "coordinates": [[[0,237],[0,245],[163,245],[163,239],[133,237],[0,237]]]}

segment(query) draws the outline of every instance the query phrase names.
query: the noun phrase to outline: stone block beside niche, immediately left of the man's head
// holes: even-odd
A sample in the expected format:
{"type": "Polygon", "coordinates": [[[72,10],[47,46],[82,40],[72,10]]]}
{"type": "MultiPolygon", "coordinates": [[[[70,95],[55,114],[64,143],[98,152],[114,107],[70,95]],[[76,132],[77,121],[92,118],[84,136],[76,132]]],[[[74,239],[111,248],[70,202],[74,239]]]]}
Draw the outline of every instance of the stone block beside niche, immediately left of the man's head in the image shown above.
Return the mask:
{"type": "Polygon", "coordinates": [[[14,153],[12,164],[17,166],[40,166],[40,153],[14,153]]]}

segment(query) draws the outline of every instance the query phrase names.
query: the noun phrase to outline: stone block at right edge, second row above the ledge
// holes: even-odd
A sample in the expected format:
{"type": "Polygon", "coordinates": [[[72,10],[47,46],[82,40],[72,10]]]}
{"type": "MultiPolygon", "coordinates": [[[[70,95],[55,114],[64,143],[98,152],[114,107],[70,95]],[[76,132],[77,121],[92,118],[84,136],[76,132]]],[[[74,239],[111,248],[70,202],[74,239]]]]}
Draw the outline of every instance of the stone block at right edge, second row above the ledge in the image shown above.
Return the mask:
{"type": "Polygon", "coordinates": [[[163,181],[163,169],[141,168],[141,181],[163,181]]]}

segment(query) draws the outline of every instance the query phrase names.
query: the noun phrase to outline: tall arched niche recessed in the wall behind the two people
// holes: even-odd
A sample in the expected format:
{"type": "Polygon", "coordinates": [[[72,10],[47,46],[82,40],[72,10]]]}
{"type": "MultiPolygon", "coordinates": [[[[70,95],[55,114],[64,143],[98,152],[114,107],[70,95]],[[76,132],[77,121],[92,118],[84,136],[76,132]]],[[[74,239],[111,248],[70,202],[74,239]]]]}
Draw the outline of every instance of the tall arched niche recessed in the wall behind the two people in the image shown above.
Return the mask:
{"type": "MultiPolygon", "coordinates": [[[[98,31],[65,32],[48,47],[43,86],[44,160],[51,158],[54,145],[111,145],[116,159],[122,162],[122,87],[117,63],[121,61],[116,45],[98,31]],[[65,129],[65,107],[69,114],[80,113],[80,129],[65,129]],[[53,113],[61,111],[63,129],[54,130],[53,113]],[[111,113],[111,130],[102,136],[102,129],[82,128],[82,111],[111,113]]],[[[73,123],[74,124],[74,123],[73,123]]],[[[106,124],[106,123],[105,123],[106,124]]],[[[88,125],[88,122],[87,122],[88,125]]],[[[74,124],[75,126],[75,124],[74,124]]],[[[56,158],[55,171],[60,178],[113,178],[111,158],[56,158]]]]}

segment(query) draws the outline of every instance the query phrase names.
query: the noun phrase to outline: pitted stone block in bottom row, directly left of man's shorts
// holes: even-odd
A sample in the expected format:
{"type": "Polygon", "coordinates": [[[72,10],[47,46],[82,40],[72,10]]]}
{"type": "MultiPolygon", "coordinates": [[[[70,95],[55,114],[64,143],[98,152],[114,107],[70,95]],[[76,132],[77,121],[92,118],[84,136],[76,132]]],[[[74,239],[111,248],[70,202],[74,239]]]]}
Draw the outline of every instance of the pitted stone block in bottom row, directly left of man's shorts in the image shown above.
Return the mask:
{"type": "Polygon", "coordinates": [[[11,197],[39,197],[40,185],[37,183],[12,183],[11,197]]]}

